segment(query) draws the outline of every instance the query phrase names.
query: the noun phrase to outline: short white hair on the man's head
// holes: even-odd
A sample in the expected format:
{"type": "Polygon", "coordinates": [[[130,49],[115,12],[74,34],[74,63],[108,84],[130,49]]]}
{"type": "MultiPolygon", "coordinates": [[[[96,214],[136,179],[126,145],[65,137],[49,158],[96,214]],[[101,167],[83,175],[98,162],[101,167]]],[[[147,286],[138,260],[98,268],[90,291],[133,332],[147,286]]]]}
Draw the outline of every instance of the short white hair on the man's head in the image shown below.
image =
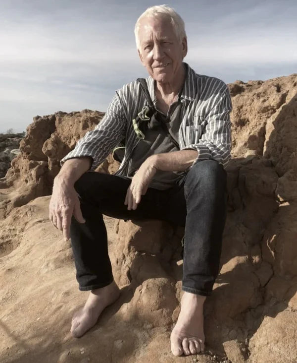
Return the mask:
{"type": "Polygon", "coordinates": [[[162,17],[166,16],[170,19],[170,22],[173,26],[173,29],[175,31],[175,34],[179,40],[179,42],[182,42],[184,38],[187,39],[186,30],[185,30],[185,23],[184,20],[181,18],[181,16],[168,5],[155,5],[148,7],[145,12],[143,12],[140,17],[137,19],[135,28],[134,28],[134,34],[135,34],[135,40],[136,40],[136,47],[138,50],[140,50],[140,43],[139,43],[139,29],[140,29],[140,22],[144,17],[162,17]]]}

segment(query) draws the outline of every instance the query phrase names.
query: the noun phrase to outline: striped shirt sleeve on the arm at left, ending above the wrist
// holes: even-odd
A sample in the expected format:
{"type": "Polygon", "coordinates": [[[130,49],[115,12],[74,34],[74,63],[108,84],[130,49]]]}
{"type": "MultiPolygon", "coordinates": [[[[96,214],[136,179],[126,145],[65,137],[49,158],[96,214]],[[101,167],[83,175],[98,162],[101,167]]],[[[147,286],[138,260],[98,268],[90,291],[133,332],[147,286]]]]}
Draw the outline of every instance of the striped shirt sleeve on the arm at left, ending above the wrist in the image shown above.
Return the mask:
{"type": "Polygon", "coordinates": [[[125,137],[127,118],[123,104],[115,94],[110,102],[106,114],[94,130],[88,131],[70,151],[60,164],[68,159],[92,158],[91,171],[95,170],[109,155],[111,150],[125,137]]]}

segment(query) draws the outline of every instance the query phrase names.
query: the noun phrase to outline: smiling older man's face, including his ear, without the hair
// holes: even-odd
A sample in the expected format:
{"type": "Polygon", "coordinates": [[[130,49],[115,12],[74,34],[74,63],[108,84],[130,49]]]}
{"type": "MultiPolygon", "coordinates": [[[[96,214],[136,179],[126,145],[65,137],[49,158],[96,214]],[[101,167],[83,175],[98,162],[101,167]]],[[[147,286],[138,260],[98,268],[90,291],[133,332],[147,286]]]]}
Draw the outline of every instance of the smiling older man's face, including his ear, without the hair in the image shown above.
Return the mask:
{"type": "Polygon", "coordinates": [[[187,40],[178,41],[167,17],[144,18],[139,29],[139,56],[150,76],[160,83],[174,83],[187,54],[187,40]]]}

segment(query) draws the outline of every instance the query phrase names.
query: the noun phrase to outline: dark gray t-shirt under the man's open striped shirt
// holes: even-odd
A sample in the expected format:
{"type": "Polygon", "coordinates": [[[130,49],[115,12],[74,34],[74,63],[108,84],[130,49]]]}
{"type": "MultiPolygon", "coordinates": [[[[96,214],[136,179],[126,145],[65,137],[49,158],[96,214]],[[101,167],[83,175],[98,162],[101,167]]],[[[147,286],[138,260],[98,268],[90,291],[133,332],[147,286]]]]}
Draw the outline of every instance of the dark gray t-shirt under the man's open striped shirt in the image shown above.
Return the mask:
{"type": "MultiPolygon", "coordinates": [[[[167,116],[158,112],[155,117],[151,118],[145,138],[139,141],[133,151],[129,172],[131,178],[149,156],[179,150],[178,130],[181,123],[182,106],[182,103],[177,101],[170,106],[167,116]]],[[[159,190],[168,189],[185,174],[185,172],[157,170],[149,187],[159,190]]]]}

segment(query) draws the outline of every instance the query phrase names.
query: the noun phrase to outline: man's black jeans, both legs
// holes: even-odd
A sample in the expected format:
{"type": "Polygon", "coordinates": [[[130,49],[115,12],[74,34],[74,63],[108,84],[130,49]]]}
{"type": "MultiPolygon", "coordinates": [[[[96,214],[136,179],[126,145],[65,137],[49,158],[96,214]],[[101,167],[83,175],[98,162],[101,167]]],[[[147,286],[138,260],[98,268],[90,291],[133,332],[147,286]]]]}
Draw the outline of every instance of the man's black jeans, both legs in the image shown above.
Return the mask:
{"type": "Polygon", "coordinates": [[[185,226],[184,291],[208,296],[218,274],[226,219],[226,172],[215,161],[195,164],[172,188],[148,188],[136,210],[124,204],[131,180],[88,172],[75,183],[86,223],[71,221],[76,278],[82,291],[113,281],[102,214],[118,219],[160,219],[185,226]]]}

